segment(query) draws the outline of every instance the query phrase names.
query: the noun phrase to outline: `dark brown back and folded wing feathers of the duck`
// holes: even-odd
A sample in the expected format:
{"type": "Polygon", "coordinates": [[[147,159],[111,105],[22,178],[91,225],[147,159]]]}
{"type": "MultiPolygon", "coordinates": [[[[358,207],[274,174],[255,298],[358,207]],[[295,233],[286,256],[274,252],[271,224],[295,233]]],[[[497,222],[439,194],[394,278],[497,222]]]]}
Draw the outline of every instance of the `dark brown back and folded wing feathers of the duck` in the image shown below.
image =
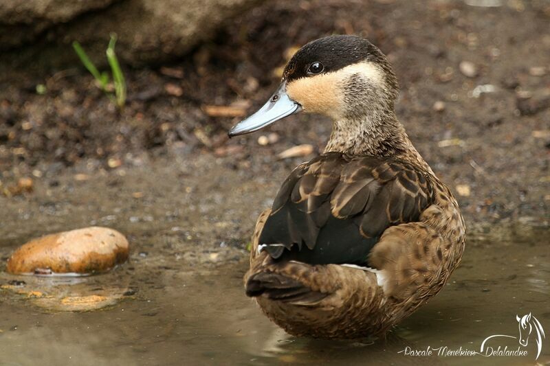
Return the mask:
{"type": "Polygon", "coordinates": [[[366,265],[388,227],[418,221],[437,201],[436,180],[399,159],[327,152],[285,180],[260,249],[276,260],[366,265]]]}

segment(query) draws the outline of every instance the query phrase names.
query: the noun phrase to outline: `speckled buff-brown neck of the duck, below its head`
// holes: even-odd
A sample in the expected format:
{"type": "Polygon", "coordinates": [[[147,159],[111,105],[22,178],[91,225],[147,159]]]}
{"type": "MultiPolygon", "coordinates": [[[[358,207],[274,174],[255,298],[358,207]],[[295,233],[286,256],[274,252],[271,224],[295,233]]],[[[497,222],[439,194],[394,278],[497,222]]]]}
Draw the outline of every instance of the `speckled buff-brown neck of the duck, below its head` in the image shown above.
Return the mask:
{"type": "Polygon", "coordinates": [[[331,151],[349,155],[397,157],[432,172],[428,163],[412,146],[405,128],[393,111],[371,111],[369,116],[333,122],[331,137],[325,148],[325,152],[331,151]]]}

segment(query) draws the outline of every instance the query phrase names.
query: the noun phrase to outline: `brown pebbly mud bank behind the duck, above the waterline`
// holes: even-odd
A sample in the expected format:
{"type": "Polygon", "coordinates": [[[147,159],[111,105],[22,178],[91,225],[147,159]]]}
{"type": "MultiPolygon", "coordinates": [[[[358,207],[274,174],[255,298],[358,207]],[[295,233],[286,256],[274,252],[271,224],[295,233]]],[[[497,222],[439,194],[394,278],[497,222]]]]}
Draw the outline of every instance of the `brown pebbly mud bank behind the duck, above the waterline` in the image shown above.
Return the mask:
{"type": "Polygon", "coordinates": [[[277,154],[319,152],[331,126],[302,114],[226,132],[270,95],[295,47],[331,33],[361,34],[388,55],[397,115],[470,228],[547,226],[550,4],[469,3],[483,1],[267,1],[185,58],[124,69],[123,111],[80,65],[16,67],[0,78],[3,244],[95,223],[242,249],[285,176],[313,156],[277,154]],[[260,145],[270,134],[276,142],[260,145]]]}

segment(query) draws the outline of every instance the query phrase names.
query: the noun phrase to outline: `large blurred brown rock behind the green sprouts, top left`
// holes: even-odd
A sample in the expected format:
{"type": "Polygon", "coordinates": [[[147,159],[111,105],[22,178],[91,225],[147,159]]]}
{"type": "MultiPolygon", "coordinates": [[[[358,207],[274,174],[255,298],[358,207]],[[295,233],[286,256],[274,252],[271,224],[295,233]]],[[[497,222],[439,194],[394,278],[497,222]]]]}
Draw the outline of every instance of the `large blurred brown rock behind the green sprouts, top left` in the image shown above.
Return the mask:
{"type": "Polygon", "coordinates": [[[0,52],[0,64],[80,65],[71,47],[78,41],[102,66],[111,32],[118,34],[116,53],[123,65],[174,59],[261,1],[0,0],[0,51],[12,50],[0,52]]]}

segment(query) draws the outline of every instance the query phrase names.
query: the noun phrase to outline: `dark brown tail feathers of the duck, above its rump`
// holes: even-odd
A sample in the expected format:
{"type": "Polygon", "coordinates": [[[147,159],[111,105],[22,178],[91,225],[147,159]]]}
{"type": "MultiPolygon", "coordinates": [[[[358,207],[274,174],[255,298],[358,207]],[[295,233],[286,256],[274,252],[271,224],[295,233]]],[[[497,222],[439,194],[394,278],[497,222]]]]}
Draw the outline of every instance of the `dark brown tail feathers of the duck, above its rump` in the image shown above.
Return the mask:
{"type": "Polygon", "coordinates": [[[298,279],[271,271],[261,271],[250,275],[245,283],[245,290],[249,297],[263,296],[270,300],[296,305],[316,304],[328,295],[312,290],[298,279]]]}

